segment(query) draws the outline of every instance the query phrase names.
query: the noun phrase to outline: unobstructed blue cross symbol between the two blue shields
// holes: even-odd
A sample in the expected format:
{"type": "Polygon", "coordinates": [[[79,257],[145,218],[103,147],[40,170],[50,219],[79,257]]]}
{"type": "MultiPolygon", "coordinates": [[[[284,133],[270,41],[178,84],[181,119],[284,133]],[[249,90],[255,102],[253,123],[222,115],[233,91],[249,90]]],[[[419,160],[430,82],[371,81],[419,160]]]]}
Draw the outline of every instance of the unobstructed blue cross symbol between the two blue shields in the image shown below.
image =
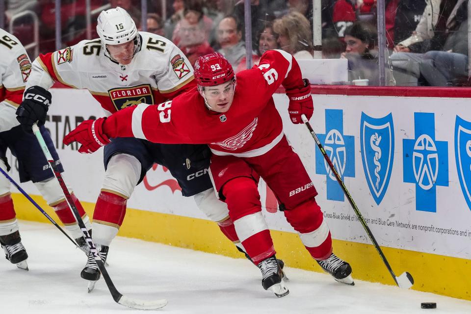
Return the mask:
{"type": "Polygon", "coordinates": [[[436,186],[448,186],[448,142],[435,140],[435,114],[414,112],[415,139],[402,140],[403,177],[416,185],[416,209],[437,211],[436,186]]]}

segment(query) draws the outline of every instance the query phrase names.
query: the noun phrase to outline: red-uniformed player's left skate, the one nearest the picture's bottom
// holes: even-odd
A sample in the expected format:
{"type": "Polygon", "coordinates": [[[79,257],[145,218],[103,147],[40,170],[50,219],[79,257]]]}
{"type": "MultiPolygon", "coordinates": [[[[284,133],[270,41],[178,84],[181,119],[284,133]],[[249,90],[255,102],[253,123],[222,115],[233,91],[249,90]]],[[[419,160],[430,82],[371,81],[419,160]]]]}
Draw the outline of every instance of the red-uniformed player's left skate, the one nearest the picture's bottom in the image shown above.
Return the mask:
{"type": "Polygon", "coordinates": [[[289,293],[288,288],[285,287],[285,273],[274,255],[257,266],[262,271],[262,287],[265,290],[272,291],[279,298],[289,293]]]}

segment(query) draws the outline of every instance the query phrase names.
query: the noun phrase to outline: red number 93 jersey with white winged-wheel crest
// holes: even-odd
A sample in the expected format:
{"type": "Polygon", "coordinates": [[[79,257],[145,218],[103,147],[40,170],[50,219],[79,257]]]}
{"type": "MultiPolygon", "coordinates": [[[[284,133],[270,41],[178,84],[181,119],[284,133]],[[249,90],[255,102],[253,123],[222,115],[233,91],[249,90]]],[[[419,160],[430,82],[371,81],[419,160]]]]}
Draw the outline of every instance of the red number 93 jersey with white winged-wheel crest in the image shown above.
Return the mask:
{"type": "Polygon", "coordinates": [[[255,157],[283,138],[283,124],[272,95],[304,86],[301,70],[288,52],[265,52],[258,66],[236,75],[234,100],[225,113],[209,110],[194,88],[173,101],[141,104],[107,118],[109,137],[137,137],[165,144],[208,144],[215,155],[255,157]]]}

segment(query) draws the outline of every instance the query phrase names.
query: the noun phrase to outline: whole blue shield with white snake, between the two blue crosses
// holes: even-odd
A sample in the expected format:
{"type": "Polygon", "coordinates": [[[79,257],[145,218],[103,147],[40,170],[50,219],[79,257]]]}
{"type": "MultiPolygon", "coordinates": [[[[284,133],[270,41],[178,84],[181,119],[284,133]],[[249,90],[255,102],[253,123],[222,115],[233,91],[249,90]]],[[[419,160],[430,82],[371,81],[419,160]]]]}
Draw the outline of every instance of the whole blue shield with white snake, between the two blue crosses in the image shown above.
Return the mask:
{"type": "Polygon", "coordinates": [[[366,183],[379,205],[388,189],[394,160],[392,113],[383,118],[372,118],[362,112],[360,145],[366,183]]]}

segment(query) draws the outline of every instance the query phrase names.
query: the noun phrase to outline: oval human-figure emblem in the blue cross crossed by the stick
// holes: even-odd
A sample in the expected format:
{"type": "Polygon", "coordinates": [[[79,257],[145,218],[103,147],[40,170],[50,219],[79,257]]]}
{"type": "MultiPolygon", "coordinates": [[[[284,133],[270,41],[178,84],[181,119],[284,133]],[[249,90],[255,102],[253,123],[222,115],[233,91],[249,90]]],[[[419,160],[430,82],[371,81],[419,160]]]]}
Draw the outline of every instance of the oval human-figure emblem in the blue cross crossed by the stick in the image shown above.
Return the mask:
{"type": "MultiPolygon", "coordinates": [[[[325,136],[324,149],[329,156],[335,169],[339,172],[340,177],[345,171],[346,164],[346,150],[345,141],[342,134],[338,130],[331,130],[325,136]]],[[[332,180],[337,180],[334,173],[331,171],[329,164],[324,160],[325,170],[332,180]]]]}

